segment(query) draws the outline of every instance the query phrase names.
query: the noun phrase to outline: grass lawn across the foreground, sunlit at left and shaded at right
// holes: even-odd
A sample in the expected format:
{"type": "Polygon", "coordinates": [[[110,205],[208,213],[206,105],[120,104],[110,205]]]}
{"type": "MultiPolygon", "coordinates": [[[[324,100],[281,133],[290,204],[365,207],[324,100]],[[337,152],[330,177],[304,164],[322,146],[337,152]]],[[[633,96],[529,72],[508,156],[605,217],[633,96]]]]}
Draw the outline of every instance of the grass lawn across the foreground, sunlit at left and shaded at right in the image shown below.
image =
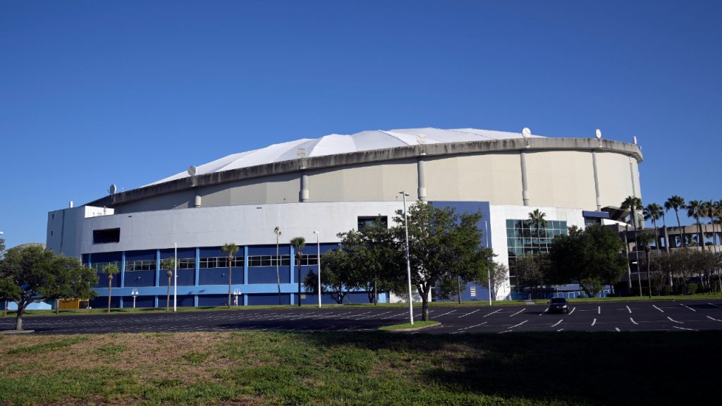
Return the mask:
{"type": "Polygon", "coordinates": [[[0,336],[0,405],[715,404],[722,332],[0,336]]]}

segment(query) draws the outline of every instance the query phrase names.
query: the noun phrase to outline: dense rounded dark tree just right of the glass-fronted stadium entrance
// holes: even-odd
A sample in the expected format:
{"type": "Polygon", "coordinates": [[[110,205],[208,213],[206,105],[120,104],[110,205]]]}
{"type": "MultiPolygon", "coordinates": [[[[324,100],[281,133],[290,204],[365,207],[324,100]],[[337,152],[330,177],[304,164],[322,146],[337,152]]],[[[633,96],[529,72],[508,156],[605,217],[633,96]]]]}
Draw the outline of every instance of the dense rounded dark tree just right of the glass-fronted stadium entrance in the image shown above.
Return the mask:
{"type": "Polygon", "coordinates": [[[558,280],[576,281],[594,297],[603,285],[622,279],[627,262],[623,249],[624,243],[609,228],[590,225],[582,230],[572,226],[567,236],[554,238],[549,250],[550,269],[558,280]]]}

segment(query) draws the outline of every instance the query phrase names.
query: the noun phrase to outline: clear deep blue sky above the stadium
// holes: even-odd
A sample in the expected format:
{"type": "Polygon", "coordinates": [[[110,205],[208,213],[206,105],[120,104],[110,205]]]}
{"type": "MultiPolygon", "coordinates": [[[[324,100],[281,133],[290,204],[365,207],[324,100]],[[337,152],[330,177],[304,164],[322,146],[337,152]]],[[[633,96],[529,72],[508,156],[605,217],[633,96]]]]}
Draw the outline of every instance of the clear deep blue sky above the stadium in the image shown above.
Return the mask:
{"type": "Polygon", "coordinates": [[[721,17],[681,0],[0,1],[0,230],[45,242],[48,211],[110,183],[425,126],[636,136],[645,204],[722,199],[721,17]]]}

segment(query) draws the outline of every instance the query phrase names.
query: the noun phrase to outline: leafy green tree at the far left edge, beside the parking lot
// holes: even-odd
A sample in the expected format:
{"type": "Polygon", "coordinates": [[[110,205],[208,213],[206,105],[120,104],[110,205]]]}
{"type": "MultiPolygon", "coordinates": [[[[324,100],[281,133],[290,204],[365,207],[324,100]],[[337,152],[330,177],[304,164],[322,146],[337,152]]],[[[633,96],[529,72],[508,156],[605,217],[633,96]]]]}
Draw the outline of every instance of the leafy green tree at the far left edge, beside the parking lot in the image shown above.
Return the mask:
{"type": "Polygon", "coordinates": [[[9,249],[0,260],[0,295],[17,303],[17,330],[22,330],[22,314],[30,303],[59,297],[92,298],[95,283],[95,272],[79,260],[55,256],[38,245],[9,249]]]}

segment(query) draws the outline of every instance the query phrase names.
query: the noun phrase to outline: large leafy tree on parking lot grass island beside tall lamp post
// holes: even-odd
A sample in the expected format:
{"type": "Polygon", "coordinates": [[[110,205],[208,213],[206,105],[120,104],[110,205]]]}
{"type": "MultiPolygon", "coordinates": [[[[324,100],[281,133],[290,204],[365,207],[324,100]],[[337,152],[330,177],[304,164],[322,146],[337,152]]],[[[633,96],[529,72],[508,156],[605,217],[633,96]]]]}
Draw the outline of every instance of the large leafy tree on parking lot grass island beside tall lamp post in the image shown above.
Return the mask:
{"type": "MultiPolygon", "coordinates": [[[[431,289],[456,275],[464,280],[485,279],[492,251],[481,246],[482,231],[477,227],[481,213],[457,215],[450,207],[417,202],[409,207],[407,217],[411,282],[421,295],[422,319],[427,321],[431,289]]],[[[393,221],[396,225],[391,233],[399,252],[396,258],[401,262],[406,254],[404,217],[396,216],[393,221]]],[[[401,263],[397,269],[405,269],[401,263]]],[[[397,277],[406,280],[405,274],[399,272],[397,277]]]]}

